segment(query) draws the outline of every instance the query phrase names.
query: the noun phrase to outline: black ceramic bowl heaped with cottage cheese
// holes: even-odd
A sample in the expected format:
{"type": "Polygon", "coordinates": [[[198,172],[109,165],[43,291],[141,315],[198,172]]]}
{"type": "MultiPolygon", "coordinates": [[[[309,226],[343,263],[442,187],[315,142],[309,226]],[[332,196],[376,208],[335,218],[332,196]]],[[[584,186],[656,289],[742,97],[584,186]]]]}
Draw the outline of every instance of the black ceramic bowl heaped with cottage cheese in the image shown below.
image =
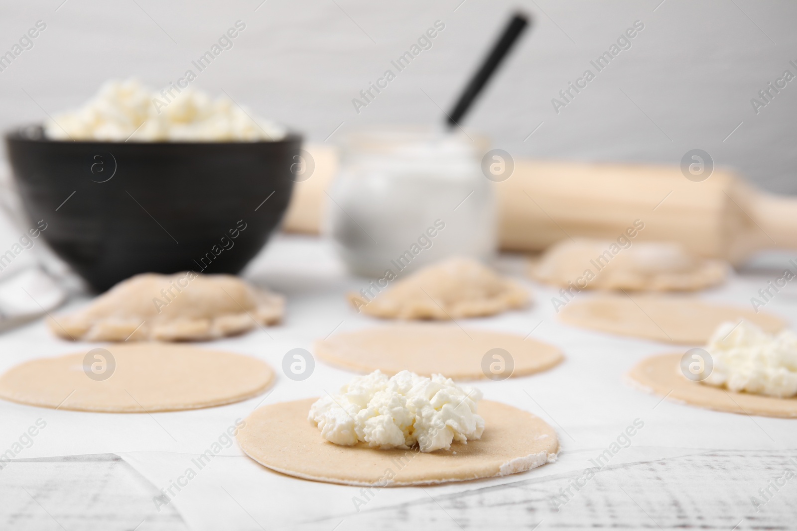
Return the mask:
{"type": "Polygon", "coordinates": [[[47,224],[41,235],[97,291],[145,271],[241,271],[285,213],[300,143],[6,135],[33,225],[47,224]]]}

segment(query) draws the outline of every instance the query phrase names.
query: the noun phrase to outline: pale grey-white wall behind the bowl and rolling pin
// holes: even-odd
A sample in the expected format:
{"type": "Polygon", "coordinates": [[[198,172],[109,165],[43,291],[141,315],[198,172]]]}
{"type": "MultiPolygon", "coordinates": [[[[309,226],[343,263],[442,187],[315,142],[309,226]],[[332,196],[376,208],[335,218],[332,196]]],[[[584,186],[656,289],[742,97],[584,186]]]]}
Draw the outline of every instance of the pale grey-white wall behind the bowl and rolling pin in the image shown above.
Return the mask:
{"type": "Polygon", "coordinates": [[[797,80],[758,115],[750,103],[784,69],[797,74],[788,64],[797,63],[797,2],[62,1],[3,0],[0,51],[37,20],[47,23],[33,49],[0,72],[3,129],[77,106],[110,77],[158,87],[176,80],[238,19],[246,29],[234,48],[194,86],[223,88],[313,141],[340,123],[330,142],[359,124],[434,122],[521,6],[534,27],[467,119],[496,146],[541,158],[673,164],[701,148],[765,188],[797,193],[797,80]],[[438,19],[446,29],[433,48],[358,115],[351,99],[438,19]],[[551,99],[636,20],[645,29],[632,48],[557,115],[551,99]]]}

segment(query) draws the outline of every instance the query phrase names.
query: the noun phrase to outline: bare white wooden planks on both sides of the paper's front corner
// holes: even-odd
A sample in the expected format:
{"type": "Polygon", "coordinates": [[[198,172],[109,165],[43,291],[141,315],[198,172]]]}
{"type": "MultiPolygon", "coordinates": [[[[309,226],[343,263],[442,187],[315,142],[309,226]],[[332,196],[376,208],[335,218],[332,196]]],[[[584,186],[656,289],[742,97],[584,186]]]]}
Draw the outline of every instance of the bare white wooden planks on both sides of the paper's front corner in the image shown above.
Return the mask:
{"type": "MultiPolygon", "coordinates": [[[[795,463],[797,451],[709,451],[609,466],[586,481],[578,471],[436,498],[425,490],[428,499],[296,529],[794,529],[797,474],[784,471],[797,472],[795,463]]],[[[2,470],[0,522],[2,529],[188,529],[173,507],[155,510],[155,494],[116,455],[18,459],[2,470]]]]}

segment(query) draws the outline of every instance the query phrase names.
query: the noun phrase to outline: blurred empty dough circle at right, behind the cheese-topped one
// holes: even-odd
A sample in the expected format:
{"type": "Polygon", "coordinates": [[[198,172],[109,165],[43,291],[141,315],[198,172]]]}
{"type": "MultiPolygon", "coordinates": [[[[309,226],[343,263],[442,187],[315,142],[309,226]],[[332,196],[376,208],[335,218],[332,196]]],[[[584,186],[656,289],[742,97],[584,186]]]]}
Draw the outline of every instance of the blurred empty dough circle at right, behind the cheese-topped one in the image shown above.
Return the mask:
{"type": "Polygon", "coordinates": [[[772,314],[663,295],[603,295],[574,301],[559,313],[563,322],[600,332],[667,343],[703,345],[723,322],[740,318],[776,334],[786,326],[772,314]]]}

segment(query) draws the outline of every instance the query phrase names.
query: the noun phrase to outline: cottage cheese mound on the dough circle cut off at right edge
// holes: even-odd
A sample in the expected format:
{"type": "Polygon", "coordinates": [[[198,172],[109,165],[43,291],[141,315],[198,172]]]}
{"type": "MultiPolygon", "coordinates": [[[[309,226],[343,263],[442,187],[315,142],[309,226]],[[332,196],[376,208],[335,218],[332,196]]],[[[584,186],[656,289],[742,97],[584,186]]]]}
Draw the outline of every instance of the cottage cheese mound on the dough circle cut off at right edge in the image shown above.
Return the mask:
{"type": "Polygon", "coordinates": [[[789,398],[797,395],[797,335],[771,335],[752,322],[725,322],[705,349],[714,368],[702,383],[731,391],[789,398]]]}

